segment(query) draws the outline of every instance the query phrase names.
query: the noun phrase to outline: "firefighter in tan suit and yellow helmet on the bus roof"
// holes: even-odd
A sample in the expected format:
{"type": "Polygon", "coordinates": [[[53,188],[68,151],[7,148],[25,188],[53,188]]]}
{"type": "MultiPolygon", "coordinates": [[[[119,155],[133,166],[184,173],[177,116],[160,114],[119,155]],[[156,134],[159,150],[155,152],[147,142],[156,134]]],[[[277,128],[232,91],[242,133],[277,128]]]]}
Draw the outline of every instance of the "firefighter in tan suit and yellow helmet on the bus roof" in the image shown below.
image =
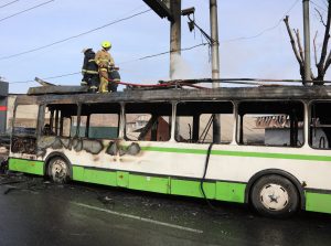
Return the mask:
{"type": "Polygon", "coordinates": [[[109,41],[104,41],[102,43],[102,50],[95,55],[95,62],[99,67],[100,86],[99,93],[108,93],[108,72],[114,68],[114,58],[109,54],[111,43],[109,41]]]}

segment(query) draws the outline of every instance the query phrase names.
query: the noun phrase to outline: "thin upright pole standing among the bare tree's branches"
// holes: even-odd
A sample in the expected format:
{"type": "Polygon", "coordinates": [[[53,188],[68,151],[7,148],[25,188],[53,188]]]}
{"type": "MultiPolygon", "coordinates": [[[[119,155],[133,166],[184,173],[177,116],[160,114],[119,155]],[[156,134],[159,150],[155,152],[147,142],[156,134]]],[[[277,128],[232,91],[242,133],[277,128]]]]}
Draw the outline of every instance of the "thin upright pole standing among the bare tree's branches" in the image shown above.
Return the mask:
{"type": "Polygon", "coordinates": [[[305,43],[305,82],[308,85],[311,81],[310,67],[310,21],[309,21],[309,0],[302,0],[303,3],[303,43],[305,43]]]}

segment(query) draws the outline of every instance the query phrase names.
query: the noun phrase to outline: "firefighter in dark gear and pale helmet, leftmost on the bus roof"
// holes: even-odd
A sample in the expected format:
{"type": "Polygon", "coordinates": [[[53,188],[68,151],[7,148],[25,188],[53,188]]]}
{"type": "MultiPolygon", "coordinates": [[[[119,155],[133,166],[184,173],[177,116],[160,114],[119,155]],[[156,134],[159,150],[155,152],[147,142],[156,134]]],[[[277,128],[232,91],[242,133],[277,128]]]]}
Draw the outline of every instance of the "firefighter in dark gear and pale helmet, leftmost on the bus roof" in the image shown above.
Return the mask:
{"type": "Polygon", "coordinates": [[[95,63],[95,52],[88,47],[82,51],[84,63],[82,67],[83,79],[81,85],[88,86],[88,90],[96,93],[99,86],[98,66],[95,63]]]}

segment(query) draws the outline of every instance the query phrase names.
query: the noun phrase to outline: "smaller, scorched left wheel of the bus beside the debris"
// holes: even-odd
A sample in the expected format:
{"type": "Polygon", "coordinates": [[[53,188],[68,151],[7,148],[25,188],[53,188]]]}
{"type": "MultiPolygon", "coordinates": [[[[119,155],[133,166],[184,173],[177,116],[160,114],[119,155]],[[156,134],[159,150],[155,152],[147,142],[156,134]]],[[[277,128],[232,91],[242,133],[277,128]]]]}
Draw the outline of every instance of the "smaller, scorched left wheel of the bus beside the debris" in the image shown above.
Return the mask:
{"type": "Polygon", "coordinates": [[[56,183],[65,183],[73,177],[72,164],[62,152],[52,152],[45,160],[44,174],[56,183]],[[60,173],[58,179],[54,179],[54,172],[60,173]]]}

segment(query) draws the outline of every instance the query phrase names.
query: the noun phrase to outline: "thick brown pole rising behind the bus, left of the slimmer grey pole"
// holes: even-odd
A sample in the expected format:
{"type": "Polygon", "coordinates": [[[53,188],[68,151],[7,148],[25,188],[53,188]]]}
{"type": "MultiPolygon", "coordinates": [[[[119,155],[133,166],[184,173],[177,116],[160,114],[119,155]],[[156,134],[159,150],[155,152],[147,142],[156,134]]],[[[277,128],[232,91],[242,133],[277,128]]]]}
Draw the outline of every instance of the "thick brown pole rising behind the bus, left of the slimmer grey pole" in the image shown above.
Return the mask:
{"type": "Polygon", "coordinates": [[[170,1],[170,11],[173,17],[170,23],[170,79],[173,79],[177,56],[181,55],[181,7],[182,0],[170,1]]]}

